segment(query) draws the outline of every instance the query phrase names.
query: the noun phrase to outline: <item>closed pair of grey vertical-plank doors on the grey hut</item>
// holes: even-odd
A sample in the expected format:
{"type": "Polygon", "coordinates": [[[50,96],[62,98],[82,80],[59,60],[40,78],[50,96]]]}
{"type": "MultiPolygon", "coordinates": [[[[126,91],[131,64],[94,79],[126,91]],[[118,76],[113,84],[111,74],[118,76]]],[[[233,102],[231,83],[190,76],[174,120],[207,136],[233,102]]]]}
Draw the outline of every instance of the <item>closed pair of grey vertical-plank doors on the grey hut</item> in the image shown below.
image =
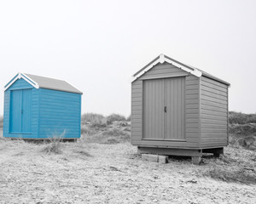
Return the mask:
{"type": "Polygon", "coordinates": [[[143,139],[185,139],[185,77],[143,81],[143,139]]]}

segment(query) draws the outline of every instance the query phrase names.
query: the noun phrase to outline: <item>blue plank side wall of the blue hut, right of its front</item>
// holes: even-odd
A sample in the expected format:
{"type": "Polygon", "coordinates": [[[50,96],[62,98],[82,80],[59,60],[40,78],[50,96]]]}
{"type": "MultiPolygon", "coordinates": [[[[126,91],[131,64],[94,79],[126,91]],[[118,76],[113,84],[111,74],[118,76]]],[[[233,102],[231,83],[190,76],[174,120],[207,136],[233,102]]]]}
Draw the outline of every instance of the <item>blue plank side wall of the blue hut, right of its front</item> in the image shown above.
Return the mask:
{"type": "Polygon", "coordinates": [[[80,138],[81,95],[40,89],[40,138],[80,138]]]}

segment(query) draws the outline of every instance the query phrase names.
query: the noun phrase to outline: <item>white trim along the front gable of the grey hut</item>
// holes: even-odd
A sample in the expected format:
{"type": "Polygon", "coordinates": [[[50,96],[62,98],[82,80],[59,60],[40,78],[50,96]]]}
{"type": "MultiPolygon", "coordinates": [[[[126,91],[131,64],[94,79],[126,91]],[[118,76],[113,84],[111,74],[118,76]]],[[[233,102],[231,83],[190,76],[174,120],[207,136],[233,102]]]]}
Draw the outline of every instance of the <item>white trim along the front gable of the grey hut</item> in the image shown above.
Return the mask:
{"type": "Polygon", "coordinates": [[[187,71],[190,74],[194,75],[195,77],[201,77],[201,75],[202,75],[202,72],[197,70],[196,68],[191,67],[191,69],[193,69],[193,70],[190,70],[189,68],[185,67],[184,65],[180,65],[177,62],[166,58],[166,56],[164,54],[160,54],[159,59],[156,59],[154,62],[149,64],[147,67],[145,67],[145,69],[143,69],[142,71],[137,73],[137,75],[133,76],[131,79],[131,82],[134,82],[138,77],[141,77],[145,72],[149,71],[154,65],[157,65],[158,63],[163,64],[164,62],[168,62],[172,65],[175,65],[177,68],[180,68],[183,71],[187,71]]]}

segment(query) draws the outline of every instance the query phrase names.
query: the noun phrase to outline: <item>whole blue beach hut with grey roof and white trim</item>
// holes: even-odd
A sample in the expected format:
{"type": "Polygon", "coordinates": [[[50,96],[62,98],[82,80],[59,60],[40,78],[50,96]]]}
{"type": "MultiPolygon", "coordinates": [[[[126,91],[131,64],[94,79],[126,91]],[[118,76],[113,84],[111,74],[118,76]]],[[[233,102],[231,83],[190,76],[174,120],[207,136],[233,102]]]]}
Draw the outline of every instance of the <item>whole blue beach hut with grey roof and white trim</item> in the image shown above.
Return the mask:
{"type": "Polygon", "coordinates": [[[80,138],[82,94],[62,80],[18,73],[4,87],[3,137],[80,138]]]}

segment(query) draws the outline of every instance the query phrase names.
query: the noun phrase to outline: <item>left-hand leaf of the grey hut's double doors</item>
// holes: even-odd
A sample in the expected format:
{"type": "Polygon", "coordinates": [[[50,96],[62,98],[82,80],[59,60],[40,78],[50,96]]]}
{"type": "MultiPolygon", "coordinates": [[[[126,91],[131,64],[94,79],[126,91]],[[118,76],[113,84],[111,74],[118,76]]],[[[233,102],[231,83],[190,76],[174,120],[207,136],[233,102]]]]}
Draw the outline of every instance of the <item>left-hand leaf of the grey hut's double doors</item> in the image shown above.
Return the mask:
{"type": "Polygon", "coordinates": [[[165,137],[165,80],[143,81],[143,139],[165,137]]]}

